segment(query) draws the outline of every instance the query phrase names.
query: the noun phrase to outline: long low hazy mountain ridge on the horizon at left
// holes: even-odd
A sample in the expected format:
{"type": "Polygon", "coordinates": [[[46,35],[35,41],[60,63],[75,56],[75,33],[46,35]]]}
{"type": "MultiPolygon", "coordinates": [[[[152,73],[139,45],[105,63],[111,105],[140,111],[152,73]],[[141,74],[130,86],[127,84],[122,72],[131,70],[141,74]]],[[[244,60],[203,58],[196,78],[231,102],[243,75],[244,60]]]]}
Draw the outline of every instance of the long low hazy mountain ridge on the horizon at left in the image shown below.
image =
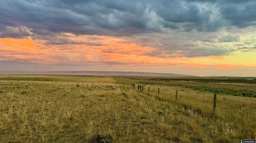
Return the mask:
{"type": "Polygon", "coordinates": [[[60,75],[133,75],[133,76],[193,76],[185,74],[173,73],[155,73],[155,72],[124,72],[124,71],[45,71],[45,72],[32,72],[32,71],[0,71],[2,74],[60,74],[60,75]]]}

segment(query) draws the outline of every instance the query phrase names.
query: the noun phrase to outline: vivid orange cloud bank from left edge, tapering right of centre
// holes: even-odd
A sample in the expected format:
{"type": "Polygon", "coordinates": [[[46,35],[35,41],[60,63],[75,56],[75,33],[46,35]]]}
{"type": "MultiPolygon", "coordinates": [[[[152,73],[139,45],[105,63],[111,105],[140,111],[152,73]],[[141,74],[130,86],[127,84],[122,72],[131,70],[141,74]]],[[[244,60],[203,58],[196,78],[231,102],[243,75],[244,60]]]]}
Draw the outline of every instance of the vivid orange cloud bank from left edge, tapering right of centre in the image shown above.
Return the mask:
{"type": "MultiPolygon", "coordinates": [[[[132,65],[177,64],[173,59],[150,56],[156,49],[130,43],[124,38],[107,36],[74,36],[70,41],[82,44],[52,45],[45,41],[2,38],[1,61],[30,62],[39,64],[113,63],[132,65]]],[[[70,43],[72,43],[70,42],[70,43]]]]}

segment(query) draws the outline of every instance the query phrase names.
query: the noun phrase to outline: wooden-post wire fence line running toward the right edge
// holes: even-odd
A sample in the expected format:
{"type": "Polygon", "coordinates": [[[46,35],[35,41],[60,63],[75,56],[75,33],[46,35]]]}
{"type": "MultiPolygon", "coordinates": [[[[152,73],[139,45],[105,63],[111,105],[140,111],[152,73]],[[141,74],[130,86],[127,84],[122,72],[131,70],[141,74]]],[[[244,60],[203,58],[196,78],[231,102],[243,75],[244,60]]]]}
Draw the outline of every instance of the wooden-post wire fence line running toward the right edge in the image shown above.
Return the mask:
{"type": "MultiPolygon", "coordinates": [[[[131,84],[132,87],[135,87],[135,84],[131,84]]],[[[146,85],[138,85],[138,92],[143,93],[143,87],[146,85]],[[141,90],[142,89],[142,90],[141,90]]],[[[234,98],[234,97],[217,97],[217,94],[213,94],[212,96],[203,96],[196,93],[184,93],[182,91],[184,90],[174,90],[172,91],[165,91],[164,89],[168,90],[168,88],[161,88],[161,95],[160,95],[160,88],[159,86],[151,86],[148,85],[148,91],[147,95],[155,96],[158,99],[163,99],[163,101],[177,101],[181,104],[186,104],[189,106],[193,106],[193,108],[199,108],[202,111],[212,113],[212,115],[216,116],[222,116],[225,115],[225,118],[228,119],[236,119],[239,118],[241,121],[243,119],[248,119],[255,121],[256,120],[256,104],[253,104],[252,102],[256,100],[249,100],[249,99],[240,99],[240,98],[234,98]],[[154,90],[155,88],[155,90],[154,90]],[[178,94],[178,91],[181,91],[178,94]],[[174,93],[174,94],[173,94],[174,93]],[[242,103],[236,100],[246,100],[250,101],[248,104],[242,103]],[[211,107],[210,107],[211,106],[211,107]],[[210,109],[211,108],[211,109],[210,109]],[[226,113],[226,114],[224,114],[226,113]]],[[[145,93],[146,94],[146,93],[145,93]]],[[[244,97],[246,98],[246,97],[244,97]]],[[[243,102],[246,102],[243,101],[243,102]]]]}

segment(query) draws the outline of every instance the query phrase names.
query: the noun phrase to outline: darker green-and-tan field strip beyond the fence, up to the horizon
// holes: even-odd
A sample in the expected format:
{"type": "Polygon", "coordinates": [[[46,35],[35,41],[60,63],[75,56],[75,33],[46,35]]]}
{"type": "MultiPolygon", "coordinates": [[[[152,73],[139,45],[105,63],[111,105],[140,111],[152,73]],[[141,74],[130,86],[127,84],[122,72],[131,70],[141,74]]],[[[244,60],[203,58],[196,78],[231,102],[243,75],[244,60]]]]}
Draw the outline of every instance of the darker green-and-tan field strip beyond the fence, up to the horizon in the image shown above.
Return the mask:
{"type": "Polygon", "coordinates": [[[256,78],[226,77],[118,77],[118,83],[167,85],[232,96],[256,97],[256,78]]]}

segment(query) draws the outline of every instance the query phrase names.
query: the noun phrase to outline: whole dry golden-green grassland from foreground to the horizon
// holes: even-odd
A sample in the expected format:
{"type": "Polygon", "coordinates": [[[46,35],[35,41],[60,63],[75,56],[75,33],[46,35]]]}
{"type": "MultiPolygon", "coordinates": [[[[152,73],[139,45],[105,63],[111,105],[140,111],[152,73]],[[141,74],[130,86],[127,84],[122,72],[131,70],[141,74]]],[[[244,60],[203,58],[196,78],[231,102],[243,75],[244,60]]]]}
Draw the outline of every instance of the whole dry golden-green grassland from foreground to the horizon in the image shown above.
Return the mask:
{"type": "Polygon", "coordinates": [[[240,95],[254,94],[254,84],[152,78],[0,75],[0,142],[214,143],[256,138],[256,98],[240,95]],[[145,84],[143,91],[138,84],[145,84]],[[230,92],[217,93],[216,115],[212,100],[217,91],[211,89],[230,92]]]}

